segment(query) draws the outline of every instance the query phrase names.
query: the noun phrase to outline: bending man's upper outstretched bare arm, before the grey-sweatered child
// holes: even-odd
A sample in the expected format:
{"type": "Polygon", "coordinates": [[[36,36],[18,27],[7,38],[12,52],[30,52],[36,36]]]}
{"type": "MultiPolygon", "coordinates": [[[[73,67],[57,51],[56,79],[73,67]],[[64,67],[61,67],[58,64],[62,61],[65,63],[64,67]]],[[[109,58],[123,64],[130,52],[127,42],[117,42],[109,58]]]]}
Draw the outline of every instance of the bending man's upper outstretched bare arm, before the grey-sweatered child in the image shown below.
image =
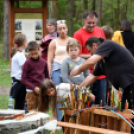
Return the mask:
{"type": "Polygon", "coordinates": [[[87,59],[79,68],[74,69],[70,73],[70,77],[73,77],[75,75],[80,74],[81,72],[90,69],[92,66],[94,66],[98,61],[100,61],[102,58],[104,58],[101,55],[93,55],[91,58],[87,59]]]}

